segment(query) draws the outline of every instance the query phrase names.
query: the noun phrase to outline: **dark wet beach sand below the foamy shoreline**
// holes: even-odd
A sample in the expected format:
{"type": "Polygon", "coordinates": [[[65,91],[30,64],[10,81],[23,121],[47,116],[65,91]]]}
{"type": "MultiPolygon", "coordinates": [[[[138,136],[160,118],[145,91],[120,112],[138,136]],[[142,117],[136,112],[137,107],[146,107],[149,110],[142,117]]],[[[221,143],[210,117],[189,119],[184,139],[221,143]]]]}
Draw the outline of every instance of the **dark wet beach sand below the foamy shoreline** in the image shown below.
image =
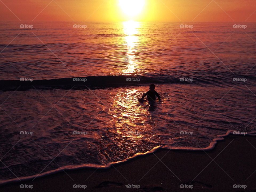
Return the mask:
{"type": "Polygon", "coordinates": [[[254,147],[255,137],[229,135],[210,151],[159,149],[109,169],[63,171],[6,184],[0,191],[256,191],[254,147]],[[33,189],[21,189],[22,183],[33,189]],[[87,187],[73,188],[74,184],[87,187]],[[140,187],[127,188],[128,184],[140,187]],[[182,184],[193,188],[180,188],[182,184]]]}

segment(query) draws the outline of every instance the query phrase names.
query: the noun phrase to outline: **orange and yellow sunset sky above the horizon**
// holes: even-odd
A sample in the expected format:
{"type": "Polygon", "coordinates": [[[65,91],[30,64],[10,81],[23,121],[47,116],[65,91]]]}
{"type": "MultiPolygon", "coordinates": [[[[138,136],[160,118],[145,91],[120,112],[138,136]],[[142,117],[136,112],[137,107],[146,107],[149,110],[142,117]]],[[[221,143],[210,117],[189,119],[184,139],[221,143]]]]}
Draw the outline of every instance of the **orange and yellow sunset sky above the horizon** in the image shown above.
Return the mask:
{"type": "Polygon", "coordinates": [[[255,0],[120,1],[125,0],[1,0],[0,21],[256,21],[255,0]]]}

